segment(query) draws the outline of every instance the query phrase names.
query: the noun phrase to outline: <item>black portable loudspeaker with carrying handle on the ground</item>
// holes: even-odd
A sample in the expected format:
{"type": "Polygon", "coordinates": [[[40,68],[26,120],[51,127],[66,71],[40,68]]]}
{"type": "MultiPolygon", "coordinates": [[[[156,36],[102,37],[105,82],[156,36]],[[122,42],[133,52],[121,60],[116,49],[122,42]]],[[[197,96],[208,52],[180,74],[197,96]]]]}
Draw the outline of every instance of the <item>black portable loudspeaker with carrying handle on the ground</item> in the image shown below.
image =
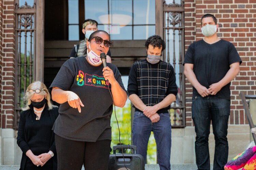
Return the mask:
{"type": "Polygon", "coordinates": [[[136,154],[137,147],[132,145],[120,145],[113,146],[113,154],[109,156],[109,168],[108,170],[145,170],[144,158],[140,154],[136,154]],[[124,153],[124,149],[131,149],[131,154],[124,153]],[[116,153],[116,150],[120,149],[121,153],[116,153]],[[126,168],[127,169],[126,169],[126,168]]]}

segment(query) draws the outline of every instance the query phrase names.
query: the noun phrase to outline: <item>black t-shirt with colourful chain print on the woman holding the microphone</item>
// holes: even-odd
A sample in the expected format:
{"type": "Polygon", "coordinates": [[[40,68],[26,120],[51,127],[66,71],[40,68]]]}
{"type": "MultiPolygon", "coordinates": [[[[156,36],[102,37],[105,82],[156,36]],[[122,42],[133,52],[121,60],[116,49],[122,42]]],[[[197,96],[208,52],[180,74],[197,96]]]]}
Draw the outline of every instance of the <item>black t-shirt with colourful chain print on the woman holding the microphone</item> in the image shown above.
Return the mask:
{"type": "MultiPolygon", "coordinates": [[[[125,90],[117,67],[107,63],[119,85],[125,90]]],[[[52,87],[73,91],[79,96],[84,107],[81,113],[65,102],[60,104],[59,117],[53,130],[57,135],[79,141],[111,140],[110,118],[113,111],[108,81],[103,78],[103,65],[92,66],[85,57],[67,60],[56,75],[52,87]]],[[[111,91],[111,84],[109,84],[111,91]]],[[[125,90],[126,91],[126,90],[125,90]]],[[[126,91],[127,92],[127,91],[126,91]]]]}

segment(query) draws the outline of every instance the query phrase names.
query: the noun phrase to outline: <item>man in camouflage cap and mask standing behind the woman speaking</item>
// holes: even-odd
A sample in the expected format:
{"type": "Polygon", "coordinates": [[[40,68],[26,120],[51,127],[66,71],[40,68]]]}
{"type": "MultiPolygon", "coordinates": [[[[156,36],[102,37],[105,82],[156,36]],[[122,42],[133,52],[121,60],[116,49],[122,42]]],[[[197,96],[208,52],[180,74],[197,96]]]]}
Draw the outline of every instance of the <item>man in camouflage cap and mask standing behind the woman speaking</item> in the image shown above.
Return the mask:
{"type": "MultiPolygon", "coordinates": [[[[86,49],[86,42],[89,39],[91,33],[98,30],[98,22],[93,19],[86,19],[82,24],[82,32],[85,35],[84,40],[80,41],[79,44],[74,45],[69,58],[84,56],[84,50],[86,49]]],[[[111,63],[111,52],[110,50],[106,54],[106,62],[111,63]]]]}

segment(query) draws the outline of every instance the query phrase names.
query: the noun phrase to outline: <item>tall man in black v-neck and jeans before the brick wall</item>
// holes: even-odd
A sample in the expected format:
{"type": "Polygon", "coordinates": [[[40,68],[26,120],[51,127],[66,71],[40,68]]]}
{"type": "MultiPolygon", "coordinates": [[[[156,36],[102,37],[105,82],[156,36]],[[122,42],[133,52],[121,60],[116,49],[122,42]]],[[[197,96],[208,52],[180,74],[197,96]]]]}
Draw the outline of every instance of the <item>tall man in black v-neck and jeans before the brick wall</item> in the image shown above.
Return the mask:
{"type": "Polygon", "coordinates": [[[224,169],[228,159],[227,129],[230,82],[238,75],[241,58],[228,41],[217,36],[218,24],[211,14],[201,18],[202,40],[192,43],[184,59],[184,74],[193,86],[192,119],[196,131],[196,163],[210,170],[208,138],[212,121],[215,138],[213,169],[224,169]]]}

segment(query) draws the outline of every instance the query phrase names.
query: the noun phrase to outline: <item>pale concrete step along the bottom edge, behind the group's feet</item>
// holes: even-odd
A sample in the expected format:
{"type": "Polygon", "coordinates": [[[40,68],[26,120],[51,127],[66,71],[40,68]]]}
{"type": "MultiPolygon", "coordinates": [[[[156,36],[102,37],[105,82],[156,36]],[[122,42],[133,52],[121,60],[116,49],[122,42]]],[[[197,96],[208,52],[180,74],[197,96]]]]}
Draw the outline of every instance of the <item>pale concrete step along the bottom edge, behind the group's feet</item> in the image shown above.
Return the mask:
{"type": "MultiPolygon", "coordinates": [[[[0,170],[19,170],[19,165],[0,165],[0,170]]],[[[211,164],[211,170],[213,165],[211,164]]],[[[197,170],[196,164],[172,164],[172,170],[197,170]]],[[[84,167],[82,168],[84,170],[84,167]]],[[[146,164],[145,170],[160,170],[158,164],[146,164]]]]}

